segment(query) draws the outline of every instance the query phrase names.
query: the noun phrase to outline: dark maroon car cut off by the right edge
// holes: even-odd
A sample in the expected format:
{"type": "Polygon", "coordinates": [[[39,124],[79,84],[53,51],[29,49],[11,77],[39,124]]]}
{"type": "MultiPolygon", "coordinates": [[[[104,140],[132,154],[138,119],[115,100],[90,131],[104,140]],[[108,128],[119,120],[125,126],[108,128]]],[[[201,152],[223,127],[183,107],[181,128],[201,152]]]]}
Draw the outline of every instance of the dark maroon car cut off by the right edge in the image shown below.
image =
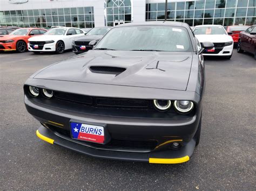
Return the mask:
{"type": "Polygon", "coordinates": [[[237,52],[250,52],[254,55],[256,60],[256,25],[249,27],[239,35],[237,52]]]}

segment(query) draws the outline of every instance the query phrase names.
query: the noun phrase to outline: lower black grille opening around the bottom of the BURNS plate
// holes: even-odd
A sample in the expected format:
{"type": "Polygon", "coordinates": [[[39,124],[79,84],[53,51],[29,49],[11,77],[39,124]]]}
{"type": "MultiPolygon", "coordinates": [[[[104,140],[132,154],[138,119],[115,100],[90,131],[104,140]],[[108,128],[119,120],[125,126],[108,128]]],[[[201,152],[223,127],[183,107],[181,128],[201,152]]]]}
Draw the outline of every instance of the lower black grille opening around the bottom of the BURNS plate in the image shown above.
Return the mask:
{"type": "MultiPolygon", "coordinates": [[[[70,130],[60,129],[56,126],[46,124],[49,129],[51,129],[54,132],[59,133],[62,136],[68,137],[71,139],[70,136],[70,130]]],[[[72,139],[75,142],[84,143],[85,145],[90,145],[95,148],[102,148],[106,150],[126,150],[126,151],[140,151],[140,152],[150,152],[154,150],[154,148],[157,146],[158,142],[156,140],[149,140],[149,141],[137,141],[137,140],[118,140],[118,139],[111,139],[109,143],[102,145],[98,143],[92,143],[92,142],[84,142],[82,140],[76,140],[72,139]]]]}

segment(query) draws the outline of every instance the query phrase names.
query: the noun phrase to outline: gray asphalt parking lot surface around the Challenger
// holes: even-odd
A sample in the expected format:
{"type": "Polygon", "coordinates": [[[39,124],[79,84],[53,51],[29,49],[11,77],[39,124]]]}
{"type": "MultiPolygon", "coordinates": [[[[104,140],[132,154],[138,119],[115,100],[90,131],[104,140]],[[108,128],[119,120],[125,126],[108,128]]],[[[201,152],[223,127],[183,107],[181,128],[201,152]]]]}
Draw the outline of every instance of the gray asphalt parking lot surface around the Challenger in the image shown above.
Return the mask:
{"type": "Polygon", "coordinates": [[[87,157],[36,137],[23,83],[38,69],[73,56],[0,53],[0,188],[256,190],[256,61],[208,58],[200,144],[177,165],[87,157]]]}

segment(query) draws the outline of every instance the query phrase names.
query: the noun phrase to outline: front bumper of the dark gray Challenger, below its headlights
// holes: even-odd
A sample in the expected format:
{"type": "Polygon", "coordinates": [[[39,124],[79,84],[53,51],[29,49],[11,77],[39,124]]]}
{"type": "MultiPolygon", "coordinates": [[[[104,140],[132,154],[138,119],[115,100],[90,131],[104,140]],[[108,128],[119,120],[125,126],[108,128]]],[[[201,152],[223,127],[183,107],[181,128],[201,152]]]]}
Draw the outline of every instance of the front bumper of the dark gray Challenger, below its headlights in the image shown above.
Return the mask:
{"type": "MultiPolygon", "coordinates": [[[[52,143],[99,158],[150,161],[154,163],[159,163],[159,161],[178,163],[177,161],[185,159],[187,161],[196,145],[194,135],[201,117],[197,114],[186,119],[97,116],[39,104],[26,96],[25,106],[29,113],[44,125],[39,128],[38,132],[54,140],[52,143]],[[101,144],[81,143],[71,139],[70,134],[62,133],[62,131],[70,131],[70,121],[96,125],[104,124],[111,135],[111,139],[135,143],[157,140],[157,145],[151,150],[138,149],[137,147],[129,149],[124,147],[118,150],[116,147],[106,148],[101,144]],[[179,150],[173,150],[170,147],[173,142],[178,142],[183,146],[179,150]]],[[[198,113],[201,114],[201,109],[198,113]]]]}

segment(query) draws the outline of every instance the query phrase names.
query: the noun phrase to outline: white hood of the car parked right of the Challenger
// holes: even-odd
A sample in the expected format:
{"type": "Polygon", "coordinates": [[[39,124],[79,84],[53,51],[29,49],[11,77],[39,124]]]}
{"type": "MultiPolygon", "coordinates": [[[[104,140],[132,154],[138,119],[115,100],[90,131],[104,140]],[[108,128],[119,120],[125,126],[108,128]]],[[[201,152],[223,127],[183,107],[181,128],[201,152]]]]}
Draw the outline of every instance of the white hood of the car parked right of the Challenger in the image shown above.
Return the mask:
{"type": "Polygon", "coordinates": [[[233,41],[232,37],[227,34],[197,34],[200,43],[210,41],[212,43],[226,43],[233,41]]]}

